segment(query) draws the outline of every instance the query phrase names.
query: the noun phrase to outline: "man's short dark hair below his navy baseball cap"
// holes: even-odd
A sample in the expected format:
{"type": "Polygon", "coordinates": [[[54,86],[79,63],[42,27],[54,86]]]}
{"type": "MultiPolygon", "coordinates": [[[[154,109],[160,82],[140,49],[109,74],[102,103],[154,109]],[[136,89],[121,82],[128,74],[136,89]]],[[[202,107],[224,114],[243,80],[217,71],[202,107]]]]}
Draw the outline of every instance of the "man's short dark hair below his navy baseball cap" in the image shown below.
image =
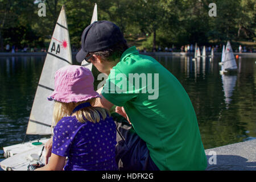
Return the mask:
{"type": "MultiPolygon", "coordinates": [[[[117,61],[121,58],[122,53],[125,52],[125,50],[127,48],[128,48],[127,43],[119,42],[119,43],[115,44],[114,46],[111,46],[102,51],[89,52],[89,55],[101,56],[102,59],[104,59],[106,61],[117,61]]],[[[90,59],[93,59],[93,57],[90,59]]]]}

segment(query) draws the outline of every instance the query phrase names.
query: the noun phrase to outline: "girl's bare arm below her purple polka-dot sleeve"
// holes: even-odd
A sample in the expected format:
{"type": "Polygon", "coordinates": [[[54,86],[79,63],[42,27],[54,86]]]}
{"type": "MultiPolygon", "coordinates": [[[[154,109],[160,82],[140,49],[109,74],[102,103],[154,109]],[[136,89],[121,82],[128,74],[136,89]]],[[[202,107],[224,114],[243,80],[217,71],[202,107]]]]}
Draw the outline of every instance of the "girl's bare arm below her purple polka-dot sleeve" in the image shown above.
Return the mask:
{"type": "Polygon", "coordinates": [[[49,163],[46,166],[37,168],[35,171],[62,171],[65,165],[66,157],[53,154],[49,160],[49,163]]]}

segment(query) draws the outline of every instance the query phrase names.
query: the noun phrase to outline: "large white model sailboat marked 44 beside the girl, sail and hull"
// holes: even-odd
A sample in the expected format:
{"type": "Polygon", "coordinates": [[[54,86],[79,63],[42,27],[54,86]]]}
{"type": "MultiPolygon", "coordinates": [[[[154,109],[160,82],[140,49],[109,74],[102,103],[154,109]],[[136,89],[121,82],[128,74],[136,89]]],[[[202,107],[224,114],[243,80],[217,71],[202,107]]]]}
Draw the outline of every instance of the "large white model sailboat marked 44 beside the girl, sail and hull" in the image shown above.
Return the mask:
{"type": "MultiPolygon", "coordinates": [[[[52,34],[46,60],[40,76],[28,121],[26,135],[51,135],[51,123],[53,114],[53,102],[47,97],[54,90],[54,75],[61,67],[72,64],[71,45],[67,17],[64,6],[61,8],[59,18],[52,34]]],[[[38,160],[38,152],[48,139],[38,142],[26,142],[14,146],[3,147],[5,156],[9,157],[0,164],[4,170],[23,171],[27,170],[30,163],[38,160]]],[[[42,157],[44,162],[44,157],[42,157]]]]}

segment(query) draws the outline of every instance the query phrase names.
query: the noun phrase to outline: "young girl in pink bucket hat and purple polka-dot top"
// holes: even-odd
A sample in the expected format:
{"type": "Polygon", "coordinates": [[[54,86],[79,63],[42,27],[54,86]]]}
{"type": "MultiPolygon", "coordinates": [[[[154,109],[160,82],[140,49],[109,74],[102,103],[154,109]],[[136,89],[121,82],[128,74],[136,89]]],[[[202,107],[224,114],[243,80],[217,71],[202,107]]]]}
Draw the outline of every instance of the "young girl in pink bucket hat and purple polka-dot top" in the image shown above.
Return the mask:
{"type": "Polygon", "coordinates": [[[53,143],[49,163],[36,170],[117,170],[116,130],[109,111],[92,107],[94,91],[89,69],[70,65],[55,73],[53,143]],[[65,164],[65,159],[68,162],[65,164]]]}

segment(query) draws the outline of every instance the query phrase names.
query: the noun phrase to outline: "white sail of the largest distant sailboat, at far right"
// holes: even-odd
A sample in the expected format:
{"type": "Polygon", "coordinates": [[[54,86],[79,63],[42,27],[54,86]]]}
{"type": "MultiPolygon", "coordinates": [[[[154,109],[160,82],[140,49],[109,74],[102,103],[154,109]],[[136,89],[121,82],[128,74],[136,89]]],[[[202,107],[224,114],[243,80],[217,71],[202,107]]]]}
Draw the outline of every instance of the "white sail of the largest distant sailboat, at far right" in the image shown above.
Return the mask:
{"type": "Polygon", "coordinates": [[[237,69],[236,59],[229,41],[225,50],[224,70],[226,69],[237,69]]]}

